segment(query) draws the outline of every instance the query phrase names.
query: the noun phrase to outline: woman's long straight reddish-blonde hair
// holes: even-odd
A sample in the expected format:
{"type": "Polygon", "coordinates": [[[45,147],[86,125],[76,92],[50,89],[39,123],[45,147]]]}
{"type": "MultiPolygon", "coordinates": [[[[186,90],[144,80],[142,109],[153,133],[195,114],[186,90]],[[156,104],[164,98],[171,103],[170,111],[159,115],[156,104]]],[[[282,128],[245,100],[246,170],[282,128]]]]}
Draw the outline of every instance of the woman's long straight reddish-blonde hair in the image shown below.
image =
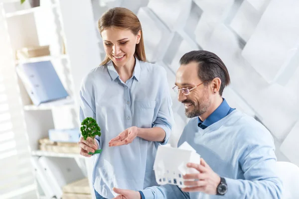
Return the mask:
{"type": "MultiPolygon", "coordinates": [[[[124,7],[114,7],[107,10],[99,19],[98,27],[100,33],[102,33],[102,31],[106,28],[110,27],[131,30],[135,35],[137,35],[140,30],[141,38],[139,44],[136,44],[134,56],[141,61],[146,61],[141,23],[138,17],[131,10],[124,7]]],[[[106,55],[104,61],[100,65],[105,65],[109,61],[110,58],[106,55]]]]}

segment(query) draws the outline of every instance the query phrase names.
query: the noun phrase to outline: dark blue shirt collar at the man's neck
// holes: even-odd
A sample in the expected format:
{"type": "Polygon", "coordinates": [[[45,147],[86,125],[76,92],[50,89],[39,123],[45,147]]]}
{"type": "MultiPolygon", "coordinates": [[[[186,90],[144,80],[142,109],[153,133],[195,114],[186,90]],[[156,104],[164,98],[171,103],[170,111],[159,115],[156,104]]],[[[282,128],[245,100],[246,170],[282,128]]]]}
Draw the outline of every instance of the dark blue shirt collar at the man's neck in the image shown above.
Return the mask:
{"type": "Polygon", "coordinates": [[[212,112],[212,114],[210,114],[204,121],[201,121],[201,119],[198,117],[198,126],[210,126],[227,115],[230,110],[230,106],[224,98],[222,99],[223,101],[218,108],[216,108],[216,110],[214,110],[214,112],[212,112]]]}

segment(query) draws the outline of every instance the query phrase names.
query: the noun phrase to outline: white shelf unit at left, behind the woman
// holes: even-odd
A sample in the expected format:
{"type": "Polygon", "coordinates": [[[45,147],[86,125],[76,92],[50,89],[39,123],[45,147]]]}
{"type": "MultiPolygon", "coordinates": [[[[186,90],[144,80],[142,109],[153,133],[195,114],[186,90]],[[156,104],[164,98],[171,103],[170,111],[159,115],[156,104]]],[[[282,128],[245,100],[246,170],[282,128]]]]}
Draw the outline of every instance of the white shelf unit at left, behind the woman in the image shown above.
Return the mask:
{"type": "MultiPolygon", "coordinates": [[[[79,154],[41,151],[38,140],[48,137],[49,129],[67,129],[79,126],[79,89],[83,77],[101,61],[100,49],[96,41],[92,4],[89,0],[40,0],[40,6],[31,7],[28,0],[23,4],[17,1],[0,3],[2,18],[12,53],[11,67],[19,63],[50,60],[69,97],[33,105],[24,85],[18,78],[19,93],[23,104],[23,118],[31,151],[35,187],[40,199],[60,198],[61,182],[71,183],[84,177],[91,182],[91,165],[88,158],[79,154]],[[86,14],[78,14],[86,13],[86,14]],[[79,40],[78,40],[79,38],[79,40]],[[49,56],[29,59],[16,59],[16,50],[31,46],[50,46],[49,56]],[[65,53],[65,50],[66,52],[65,53]],[[72,163],[77,164],[72,164],[72,163]],[[49,164],[48,164],[49,163],[49,164]],[[42,165],[52,165],[54,170],[64,171],[62,176],[51,175],[52,182],[47,184],[47,172],[36,172],[42,165]],[[55,179],[56,178],[56,179],[55,179]],[[43,185],[41,182],[44,182],[43,185]],[[54,192],[56,187],[56,191],[54,192]],[[50,189],[52,189],[50,191],[50,189]],[[56,193],[56,194],[55,194],[56,193]]],[[[1,55],[0,55],[1,56],[1,55]]],[[[7,62],[8,63],[8,62],[7,62]]],[[[46,169],[44,167],[44,169],[46,169]]],[[[60,173],[61,173],[60,172],[60,173]]],[[[59,172],[58,172],[59,173],[59,172]]],[[[92,186],[90,186],[92,187],[92,186]]],[[[91,188],[92,195],[94,194],[91,188]]],[[[93,196],[94,198],[94,196],[93,196]]]]}

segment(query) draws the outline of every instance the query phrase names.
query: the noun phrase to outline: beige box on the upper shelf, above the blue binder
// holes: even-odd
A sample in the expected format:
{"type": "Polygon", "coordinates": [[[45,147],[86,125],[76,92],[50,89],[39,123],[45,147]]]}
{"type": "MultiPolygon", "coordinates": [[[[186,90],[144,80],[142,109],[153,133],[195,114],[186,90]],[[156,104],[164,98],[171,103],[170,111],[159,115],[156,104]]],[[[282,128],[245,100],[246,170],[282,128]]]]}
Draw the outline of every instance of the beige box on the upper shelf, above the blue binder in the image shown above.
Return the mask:
{"type": "Polygon", "coordinates": [[[33,46],[22,48],[16,51],[17,59],[28,59],[32,57],[41,57],[41,56],[49,56],[50,49],[49,46],[33,46]]]}

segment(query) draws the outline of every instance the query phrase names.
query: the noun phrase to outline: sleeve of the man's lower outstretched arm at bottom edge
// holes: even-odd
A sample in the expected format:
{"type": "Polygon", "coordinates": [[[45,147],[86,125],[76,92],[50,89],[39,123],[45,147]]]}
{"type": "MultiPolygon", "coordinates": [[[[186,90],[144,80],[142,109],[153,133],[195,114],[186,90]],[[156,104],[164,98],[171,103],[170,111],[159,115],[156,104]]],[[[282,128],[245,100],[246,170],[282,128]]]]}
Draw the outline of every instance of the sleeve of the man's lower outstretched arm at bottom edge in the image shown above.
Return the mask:
{"type": "Polygon", "coordinates": [[[149,187],[140,191],[142,199],[190,199],[189,193],[182,192],[175,185],[149,187]]]}

